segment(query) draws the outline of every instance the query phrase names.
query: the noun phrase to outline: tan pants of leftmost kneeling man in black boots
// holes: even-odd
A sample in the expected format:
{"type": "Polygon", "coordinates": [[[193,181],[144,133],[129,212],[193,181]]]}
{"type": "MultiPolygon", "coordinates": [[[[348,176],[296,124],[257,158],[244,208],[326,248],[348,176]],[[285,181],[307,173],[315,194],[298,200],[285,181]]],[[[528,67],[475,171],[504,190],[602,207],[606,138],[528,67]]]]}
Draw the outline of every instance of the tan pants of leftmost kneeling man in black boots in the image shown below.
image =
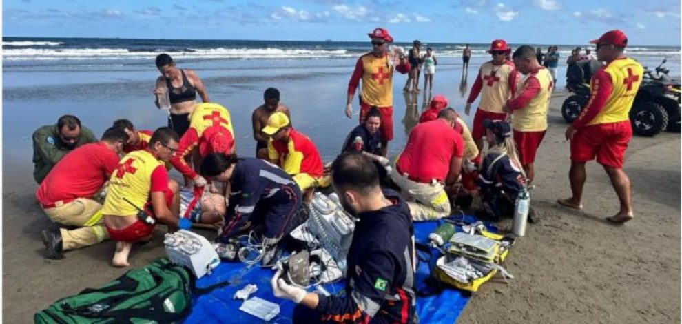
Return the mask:
{"type": "Polygon", "coordinates": [[[79,198],[69,203],[57,203],[56,207],[43,208],[45,214],[54,221],[70,226],[80,226],[75,230],[61,228],[62,250],[74,250],[100,243],[109,239],[104,227],[102,205],[92,199],[79,198]]]}

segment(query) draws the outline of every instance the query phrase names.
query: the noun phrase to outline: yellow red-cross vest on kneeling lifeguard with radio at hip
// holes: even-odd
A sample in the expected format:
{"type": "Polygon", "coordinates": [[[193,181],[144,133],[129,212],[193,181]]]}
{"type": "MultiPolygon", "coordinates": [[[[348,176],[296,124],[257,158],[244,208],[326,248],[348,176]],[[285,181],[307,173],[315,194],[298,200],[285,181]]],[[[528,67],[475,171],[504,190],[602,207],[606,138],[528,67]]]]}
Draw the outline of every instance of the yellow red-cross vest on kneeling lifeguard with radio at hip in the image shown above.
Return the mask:
{"type": "Polygon", "coordinates": [[[137,214],[138,210],[123,200],[123,197],[142,208],[149,201],[152,172],[159,165],[163,165],[163,161],[157,160],[147,150],[138,150],[123,156],[109,179],[109,191],[102,207],[102,214],[114,216],[137,214]]]}

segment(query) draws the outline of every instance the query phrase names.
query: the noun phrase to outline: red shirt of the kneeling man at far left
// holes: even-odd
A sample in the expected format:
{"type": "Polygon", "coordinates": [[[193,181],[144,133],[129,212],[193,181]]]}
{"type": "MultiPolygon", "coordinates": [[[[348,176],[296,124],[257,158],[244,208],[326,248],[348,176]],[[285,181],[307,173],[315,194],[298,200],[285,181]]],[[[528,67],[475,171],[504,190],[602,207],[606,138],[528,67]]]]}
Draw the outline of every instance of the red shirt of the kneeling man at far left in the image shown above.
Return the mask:
{"type": "Polygon", "coordinates": [[[54,165],[36,190],[36,198],[43,205],[90,198],[109,180],[118,160],[118,154],[102,142],[76,148],[54,165]]]}

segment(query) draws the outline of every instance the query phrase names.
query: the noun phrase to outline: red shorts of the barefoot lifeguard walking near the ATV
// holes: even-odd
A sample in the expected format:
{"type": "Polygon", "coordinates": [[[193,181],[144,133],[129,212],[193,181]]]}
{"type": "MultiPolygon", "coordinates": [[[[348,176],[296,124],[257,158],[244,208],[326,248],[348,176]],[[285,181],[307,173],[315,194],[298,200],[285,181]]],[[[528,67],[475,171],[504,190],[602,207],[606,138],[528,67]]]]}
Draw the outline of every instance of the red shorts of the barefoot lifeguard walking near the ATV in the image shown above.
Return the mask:
{"type": "Polygon", "coordinates": [[[597,156],[597,162],[601,165],[623,168],[623,156],[630,138],[630,121],[585,126],[570,141],[570,159],[574,162],[587,162],[597,156]]]}

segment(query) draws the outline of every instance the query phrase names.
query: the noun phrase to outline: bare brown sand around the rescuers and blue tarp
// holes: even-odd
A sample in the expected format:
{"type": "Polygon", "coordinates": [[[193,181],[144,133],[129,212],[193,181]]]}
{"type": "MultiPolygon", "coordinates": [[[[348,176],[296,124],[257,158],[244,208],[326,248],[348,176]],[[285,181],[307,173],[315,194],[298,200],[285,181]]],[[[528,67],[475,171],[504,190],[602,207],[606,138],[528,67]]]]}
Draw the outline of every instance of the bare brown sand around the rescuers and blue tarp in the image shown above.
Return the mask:
{"type": "MultiPolygon", "coordinates": [[[[515,279],[498,277],[484,285],[458,323],[679,323],[680,134],[632,139],[625,170],[635,218],[610,225],[604,218],[617,211],[617,197],[596,163],[588,165],[583,211],[555,203],[570,195],[567,124],[558,111],[565,97],[557,90],[552,99],[550,128],[536,161],[532,205],[541,222],[530,225],[506,260],[515,279]]],[[[54,225],[35,202],[34,183],[7,172],[30,169],[30,163],[5,163],[3,321],[30,323],[34,312],[57,299],[127,271],[109,265],[113,242],[68,252],[61,261],[43,259],[39,232],[54,225]]],[[[134,250],[132,267],[164,255],[164,230],[134,250]]]]}

